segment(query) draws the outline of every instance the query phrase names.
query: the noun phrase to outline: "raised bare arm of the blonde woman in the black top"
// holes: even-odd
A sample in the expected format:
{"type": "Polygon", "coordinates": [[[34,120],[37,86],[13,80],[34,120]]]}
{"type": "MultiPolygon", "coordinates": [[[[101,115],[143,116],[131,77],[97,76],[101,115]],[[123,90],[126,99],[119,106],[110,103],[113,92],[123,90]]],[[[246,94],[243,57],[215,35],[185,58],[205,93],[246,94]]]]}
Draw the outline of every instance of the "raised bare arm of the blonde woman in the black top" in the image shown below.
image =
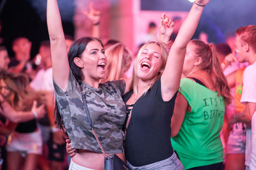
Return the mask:
{"type": "Polygon", "coordinates": [[[209,3],[209,1],[210,0],[196,0],[189,11],[188,17],[180,27],[177,38],[169,52],[166,67],[161,77],[161,93],[164,101],[172,99],[179,88],[186,46],[195,33],[205,4],[209,3]]]}

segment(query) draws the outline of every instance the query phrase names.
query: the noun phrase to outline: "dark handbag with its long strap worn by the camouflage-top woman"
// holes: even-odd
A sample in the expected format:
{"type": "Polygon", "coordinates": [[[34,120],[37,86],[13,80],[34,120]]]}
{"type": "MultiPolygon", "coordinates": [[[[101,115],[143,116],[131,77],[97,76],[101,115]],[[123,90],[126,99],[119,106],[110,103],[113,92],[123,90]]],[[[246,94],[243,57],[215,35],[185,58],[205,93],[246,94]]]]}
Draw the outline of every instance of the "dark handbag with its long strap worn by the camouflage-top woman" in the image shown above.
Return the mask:
{"type": "MultiPolygon", "coordinates": [[[[84,108],[85,108],[86,115],[88,117],[90,127],[92,127],[92,120],[91,120],[88,106],[86,103],[86,97],[85,97],[84,90],[82,90],[82,98],[83,98],[84,108]]],[[[122,170],[122,169],[131,170],[131,168],[129,166],[127,166],[127,164],[122,159],[120,159],[116,154],[112,154],[112,155],[106,154],[93,127],[92,127],[92,132],[97,140],[97,143],[100,146],[101,152],[104,155],[104,170],[122,170]]]]}

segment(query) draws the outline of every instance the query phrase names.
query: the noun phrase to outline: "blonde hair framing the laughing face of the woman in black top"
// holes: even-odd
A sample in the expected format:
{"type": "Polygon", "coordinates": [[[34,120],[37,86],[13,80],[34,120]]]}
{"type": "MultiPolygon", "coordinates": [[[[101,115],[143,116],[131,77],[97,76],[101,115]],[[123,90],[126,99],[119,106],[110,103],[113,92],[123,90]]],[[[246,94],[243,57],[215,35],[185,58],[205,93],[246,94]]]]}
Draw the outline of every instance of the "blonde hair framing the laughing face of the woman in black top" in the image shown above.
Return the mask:
{"type": "Polygon", "coordinates": [[[138,56],[141,55],[141,52],[144,50],[144,48],[150,44],[155,44],[158,45],[161,48],[161,60],[162,60],[162,65],[161,65],[161,69],[159,71],[159,74],[157,74],[157,76],[150,82],[150,84],[148,85],[148,87],[143,91],[143,95],[146,94],[146,92],[152,87],[152,85],[154,84],[154,82],[163,74],[164,68],[166,66],[166,62],[168,59],[168,52],[166,50],[166,48],[164,47],[164,45],[162,45],[159,42],[156,41],[150,41],[148,43],[146,43],[145,45],[141,46],[138,55],[136,57],[136,59],[134,60],[134,67],[133,67],[133,73],[132,73],[132,89],[134,94],[138,93],[138,73],[136,70],[136,66],[138,65],[138,56]]]}

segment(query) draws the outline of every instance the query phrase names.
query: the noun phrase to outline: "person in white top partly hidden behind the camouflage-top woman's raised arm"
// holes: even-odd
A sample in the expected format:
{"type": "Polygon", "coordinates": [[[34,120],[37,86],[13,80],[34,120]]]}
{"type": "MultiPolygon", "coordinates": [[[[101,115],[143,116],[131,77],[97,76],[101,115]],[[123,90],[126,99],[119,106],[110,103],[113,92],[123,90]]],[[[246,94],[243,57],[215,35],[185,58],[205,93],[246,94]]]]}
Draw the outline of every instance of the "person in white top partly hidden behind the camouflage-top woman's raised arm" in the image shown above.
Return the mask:
{"type": "MultiPolygon", "coordinates": [[[[50,160],[50,169],[63,169],[63,162],[65,159],[65,154],[57,156],[56,152],[65,153],[65,139],[67,134],[60,129],[56,128],[54,124],[54,87],[52,82],[52,60],[51,60],[51,46],[50,41],[42,41],[39,54],[42,57],[42,69],[38,71],[33,81],[31,81],[30,86],[34,90],[42,92],[45,99],[45,105],[47,107],[47,114],[50,126],[45,124],[42,120],[39,122],[38,126],[42,131],[42,138],[44,144],[48,146],[49,155],[45,154],[40,157],[42,164],[39,167],[45,167],[45,161],[50,160]],[[55,156],[56,155],[56,156],[55,156]]],[[[47,118],[46,118],[47,119],[47,118]]]]}

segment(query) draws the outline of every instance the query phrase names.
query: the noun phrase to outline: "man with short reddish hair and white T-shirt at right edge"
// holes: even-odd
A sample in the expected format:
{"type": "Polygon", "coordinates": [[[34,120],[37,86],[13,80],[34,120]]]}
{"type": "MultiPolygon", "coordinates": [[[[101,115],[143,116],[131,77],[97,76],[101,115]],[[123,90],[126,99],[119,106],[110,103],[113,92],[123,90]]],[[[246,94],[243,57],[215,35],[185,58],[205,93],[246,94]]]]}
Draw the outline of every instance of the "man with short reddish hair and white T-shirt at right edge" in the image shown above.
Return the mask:
{"type": "MultiPolygon", "coordinates": [[[[250,169],[251,164],[251,123],[256,111],[256,25],[240,27],[236,30],[236,52],[239,62],[248,62],[243,74],[243,93],[241,103],[245,104],[242,113],[234,114],[230,124],[242,122],[246,124],[246,153],[245,166],[250,169]]],[[[225,59],[225,62],[237,61],[235,57],[225,59]]],[[[253,158],[253,160],[255,157],[253,158]]]]}

